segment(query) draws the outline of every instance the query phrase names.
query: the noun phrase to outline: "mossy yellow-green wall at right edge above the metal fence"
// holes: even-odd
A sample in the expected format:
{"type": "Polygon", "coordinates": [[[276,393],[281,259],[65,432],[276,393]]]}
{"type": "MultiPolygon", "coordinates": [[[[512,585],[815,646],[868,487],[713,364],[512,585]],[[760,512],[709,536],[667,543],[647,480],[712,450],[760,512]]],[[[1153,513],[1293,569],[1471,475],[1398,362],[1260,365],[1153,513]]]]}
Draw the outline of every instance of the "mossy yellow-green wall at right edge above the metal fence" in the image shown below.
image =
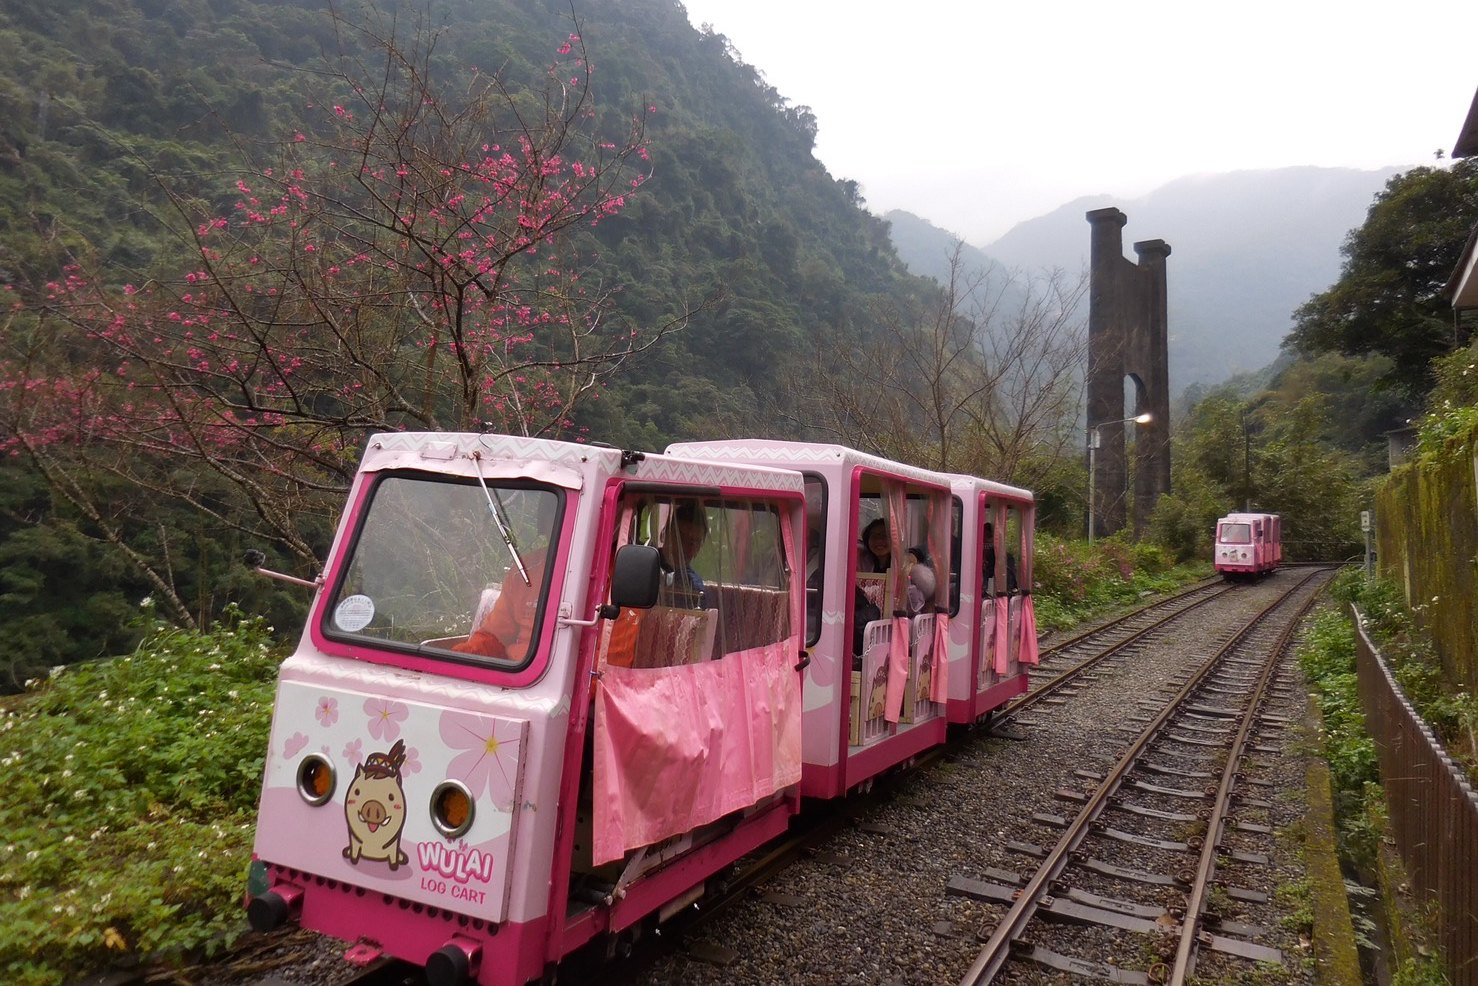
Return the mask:
{"type": "Polygon", "coordinates": [[[1376,492],[1376,557],[1441,653],[1478,690],[1478,446],[1391,473],[1376,492]]]}

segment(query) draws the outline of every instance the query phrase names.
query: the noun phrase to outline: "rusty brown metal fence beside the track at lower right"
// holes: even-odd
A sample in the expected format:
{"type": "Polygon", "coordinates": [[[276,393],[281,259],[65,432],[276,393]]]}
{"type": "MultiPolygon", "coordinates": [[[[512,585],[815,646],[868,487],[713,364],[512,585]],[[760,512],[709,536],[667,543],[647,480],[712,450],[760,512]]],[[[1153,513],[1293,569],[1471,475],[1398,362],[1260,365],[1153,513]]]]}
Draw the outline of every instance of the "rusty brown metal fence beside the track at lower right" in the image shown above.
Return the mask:
{"type": "Polygon", "coordinates": [[[1397,851],[1420,899],[1438,905],[1451,985],[1478,986],[1478,792],[1406,701],[1358,618],[1355,625],[1360,701],[1397,851]]]}

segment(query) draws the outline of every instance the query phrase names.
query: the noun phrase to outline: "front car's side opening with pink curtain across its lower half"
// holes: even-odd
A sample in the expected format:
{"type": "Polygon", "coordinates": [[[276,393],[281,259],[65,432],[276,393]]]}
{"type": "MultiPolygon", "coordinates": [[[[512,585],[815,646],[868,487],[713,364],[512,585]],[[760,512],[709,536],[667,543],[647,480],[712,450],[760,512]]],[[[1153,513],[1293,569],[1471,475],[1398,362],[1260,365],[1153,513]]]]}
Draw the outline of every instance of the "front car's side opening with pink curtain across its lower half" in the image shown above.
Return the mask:
{"type": "Polygon", "coordinates": [[[615,550],[655,547],[662,571],[597,650],[596,865],[800,782],[803,516],[798,498],[622,494],[615,550]]]}

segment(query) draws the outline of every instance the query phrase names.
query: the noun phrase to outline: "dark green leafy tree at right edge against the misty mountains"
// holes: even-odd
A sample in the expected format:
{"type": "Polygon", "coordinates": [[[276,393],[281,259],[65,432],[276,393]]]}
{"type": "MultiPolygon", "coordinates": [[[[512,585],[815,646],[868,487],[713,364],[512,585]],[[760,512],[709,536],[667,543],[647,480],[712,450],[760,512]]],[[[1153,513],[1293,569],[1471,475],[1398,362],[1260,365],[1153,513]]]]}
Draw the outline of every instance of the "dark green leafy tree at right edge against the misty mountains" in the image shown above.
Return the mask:
{"type": "Polygon", "coordinates": [[[1289,343],[1305,353],[1386,356],[1383,383],[1423,395],[1431,361],[1451,349],[1444,288],[1475,220],[1478,160],[1394,176],[1345,241],[1339,281],[1295,312],[1289,343]]]}

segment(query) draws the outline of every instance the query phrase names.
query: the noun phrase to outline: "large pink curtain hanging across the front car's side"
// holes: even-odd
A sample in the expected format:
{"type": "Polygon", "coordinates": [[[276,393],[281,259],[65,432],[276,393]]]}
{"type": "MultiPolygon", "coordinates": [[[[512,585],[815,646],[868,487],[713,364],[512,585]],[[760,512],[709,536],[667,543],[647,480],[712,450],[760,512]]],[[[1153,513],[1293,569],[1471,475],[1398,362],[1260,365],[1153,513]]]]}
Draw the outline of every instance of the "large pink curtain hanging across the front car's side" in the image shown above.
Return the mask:
{"type": "Polygon", "coordinates": [[[714,822],[801,779],[800,637],[596,689],[594,862],[714,822]]]}

